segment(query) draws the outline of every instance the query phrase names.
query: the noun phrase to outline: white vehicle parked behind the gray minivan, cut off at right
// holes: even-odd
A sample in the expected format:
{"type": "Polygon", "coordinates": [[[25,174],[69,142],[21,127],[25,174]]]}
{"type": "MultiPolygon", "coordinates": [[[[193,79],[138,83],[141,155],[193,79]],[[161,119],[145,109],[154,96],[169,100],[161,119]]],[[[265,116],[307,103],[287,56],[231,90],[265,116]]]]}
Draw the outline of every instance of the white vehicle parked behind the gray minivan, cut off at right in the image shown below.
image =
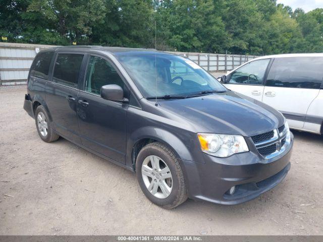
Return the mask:
{"type": "Polygon", "coordinates": [[[323,53],[267,55],[228,72],[224,85],[280,110],[291,128],[323,134],[323,53]]]}

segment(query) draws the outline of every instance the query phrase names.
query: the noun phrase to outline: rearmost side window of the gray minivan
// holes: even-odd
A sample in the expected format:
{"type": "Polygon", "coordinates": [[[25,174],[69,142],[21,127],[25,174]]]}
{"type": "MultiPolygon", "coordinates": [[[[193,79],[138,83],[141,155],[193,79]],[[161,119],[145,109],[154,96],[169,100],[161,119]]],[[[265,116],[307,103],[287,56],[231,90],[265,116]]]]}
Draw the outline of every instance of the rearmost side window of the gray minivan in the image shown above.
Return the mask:
{"type": "Polygon", "coordinates": [[[30,68],[30,75],[48,80],[49,65],[54,52],[39,53],[30,68]]]}

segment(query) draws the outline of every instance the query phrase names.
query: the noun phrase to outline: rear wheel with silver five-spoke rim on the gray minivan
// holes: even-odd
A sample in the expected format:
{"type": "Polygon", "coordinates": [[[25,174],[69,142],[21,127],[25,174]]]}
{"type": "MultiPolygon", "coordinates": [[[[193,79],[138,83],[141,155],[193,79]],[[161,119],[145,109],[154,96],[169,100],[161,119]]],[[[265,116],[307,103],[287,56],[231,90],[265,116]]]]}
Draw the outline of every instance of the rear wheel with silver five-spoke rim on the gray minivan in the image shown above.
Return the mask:
{"type": "Polygon", "coordinates": [[[52,130],[48,114],[42,105],[36,108],[35,123],[38,135],[43,141],[50,143],[60,138],[60,136],[52,130]]]}

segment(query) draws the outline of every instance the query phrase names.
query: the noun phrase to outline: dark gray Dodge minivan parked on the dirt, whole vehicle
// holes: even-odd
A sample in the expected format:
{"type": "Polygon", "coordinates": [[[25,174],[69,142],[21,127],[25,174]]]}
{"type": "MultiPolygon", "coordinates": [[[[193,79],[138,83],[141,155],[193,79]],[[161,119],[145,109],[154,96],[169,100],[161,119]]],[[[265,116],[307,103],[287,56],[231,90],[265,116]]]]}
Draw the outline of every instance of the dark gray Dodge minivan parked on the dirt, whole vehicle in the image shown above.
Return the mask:
{"type": "Polygon", "coordinates": [[[293,135],[279,111],[156,50],[40,51],[24,109],[43,141],[61,136],[135,171],[145,196],[164,208],[187,198],[246,202],[290,168],[293,135]]]}

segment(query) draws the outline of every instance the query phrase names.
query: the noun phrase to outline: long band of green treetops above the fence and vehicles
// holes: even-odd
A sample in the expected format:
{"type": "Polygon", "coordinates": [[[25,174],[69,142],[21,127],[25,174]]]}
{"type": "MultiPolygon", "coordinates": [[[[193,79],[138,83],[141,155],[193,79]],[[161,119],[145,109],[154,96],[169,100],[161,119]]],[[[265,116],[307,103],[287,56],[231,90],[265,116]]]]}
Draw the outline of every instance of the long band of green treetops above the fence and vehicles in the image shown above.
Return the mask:
{"type": "Polygon", "coordinates": [[[8,42],[192,52],[323,52],[323,9],[276,0],[0,0],[8,42]],[[155,28],[156,26],[156,28],[155,28]]]}

